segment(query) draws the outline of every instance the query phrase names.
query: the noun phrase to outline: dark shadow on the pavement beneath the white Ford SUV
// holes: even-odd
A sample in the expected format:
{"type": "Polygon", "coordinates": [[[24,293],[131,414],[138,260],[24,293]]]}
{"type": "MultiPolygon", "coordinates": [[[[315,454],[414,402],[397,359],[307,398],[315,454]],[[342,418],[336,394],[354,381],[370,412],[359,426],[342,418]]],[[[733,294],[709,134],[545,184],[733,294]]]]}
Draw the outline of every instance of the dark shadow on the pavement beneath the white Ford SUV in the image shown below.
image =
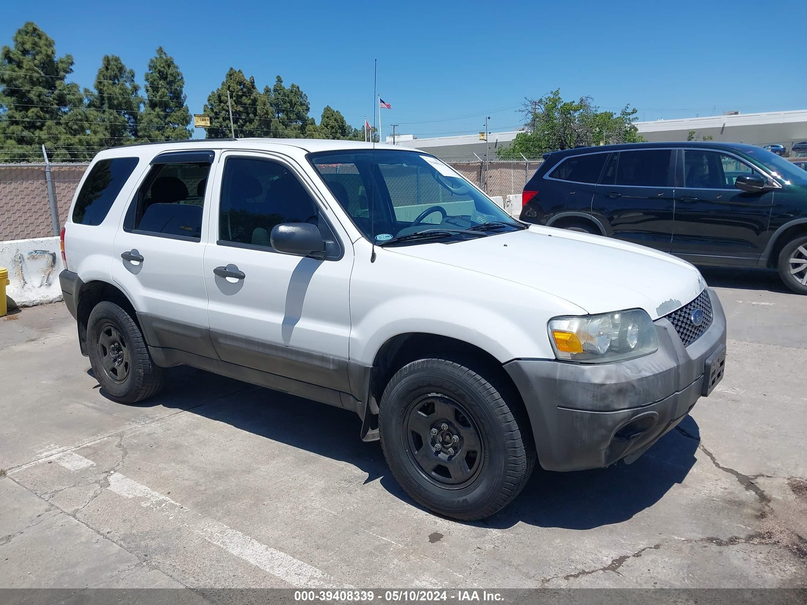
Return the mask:
{"type": "MultiPolygon", "coordinates": [[[[106,396],[103,391],[102,395],[106,396]]],[[[364,483],[380,479],[395,497],[420,507],[395,481],[378,442],[359,439],[362,423],[352,411],[187,367],[169,369],[165,389],[136,404],[159,405],[347,462],[366,473],[364,483]]],[[[681,431],[668,432],[632,465],[620,462],[607,469],[576,473],[552,473],[536,466],[514,502],[473,525],[509,528],[521,522],[546,528],[590,529],[630,519],[683,482],[695,464],[698,426],[688,416],[679,428],[681,431]]]]}

